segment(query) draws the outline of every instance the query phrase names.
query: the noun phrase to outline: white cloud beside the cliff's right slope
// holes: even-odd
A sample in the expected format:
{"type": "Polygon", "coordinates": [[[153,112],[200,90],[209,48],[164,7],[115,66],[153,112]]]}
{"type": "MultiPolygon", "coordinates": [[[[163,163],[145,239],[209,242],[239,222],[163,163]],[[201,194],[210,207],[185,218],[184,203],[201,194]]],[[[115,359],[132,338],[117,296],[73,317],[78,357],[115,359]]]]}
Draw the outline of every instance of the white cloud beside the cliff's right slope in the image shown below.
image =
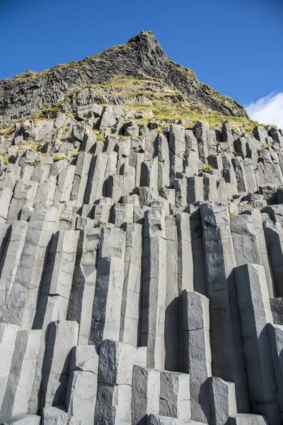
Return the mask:
{"type": "Polygon", "coordinates": [[[283,93],[270,93],[245,108],[252,120],[283,128],[283,93]]]}

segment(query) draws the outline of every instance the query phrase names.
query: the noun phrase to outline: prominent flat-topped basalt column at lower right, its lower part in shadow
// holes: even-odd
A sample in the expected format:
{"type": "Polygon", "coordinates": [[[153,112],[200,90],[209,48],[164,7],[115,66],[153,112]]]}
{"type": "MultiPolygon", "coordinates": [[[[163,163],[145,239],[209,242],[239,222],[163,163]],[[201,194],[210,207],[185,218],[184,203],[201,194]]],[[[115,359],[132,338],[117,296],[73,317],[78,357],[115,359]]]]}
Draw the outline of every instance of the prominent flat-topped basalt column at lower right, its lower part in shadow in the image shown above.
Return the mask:
{"type": "Polygon", "coordinates": [[[258,264],[246,264],[237,267],[235,273],[250,404],[253,412],[265,414],[270,424],[280,424],[267,329],[267,323],[273,320],[265,271],[258,264]],[[264,385],[262,382],[265,382],[264,385]]]}

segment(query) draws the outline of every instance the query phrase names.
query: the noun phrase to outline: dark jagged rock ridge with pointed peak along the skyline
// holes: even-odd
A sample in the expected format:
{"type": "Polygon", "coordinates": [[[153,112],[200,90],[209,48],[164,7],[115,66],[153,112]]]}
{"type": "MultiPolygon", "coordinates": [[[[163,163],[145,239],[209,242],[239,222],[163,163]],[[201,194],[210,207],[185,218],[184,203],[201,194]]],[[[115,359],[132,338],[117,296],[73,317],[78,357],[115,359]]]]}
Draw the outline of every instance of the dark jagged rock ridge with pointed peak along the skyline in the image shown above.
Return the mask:
{"type": "MultiPolygon", "coordinates": [[[[142,31],[125,45],[117,45],[79,62],[60,64],[33,74],[23,72],[0,81],[0,126],[25,120],[42,108],[52,108],[81,87],[104,84],[117,76],[156,78],[180,91],[188,100],[221,115],[247,117],[243,106],[198,81],[195,73],[171,61],[154,33],[142,31]]],[[[117,102],[116,102],[117,103],[117,102]]]]}

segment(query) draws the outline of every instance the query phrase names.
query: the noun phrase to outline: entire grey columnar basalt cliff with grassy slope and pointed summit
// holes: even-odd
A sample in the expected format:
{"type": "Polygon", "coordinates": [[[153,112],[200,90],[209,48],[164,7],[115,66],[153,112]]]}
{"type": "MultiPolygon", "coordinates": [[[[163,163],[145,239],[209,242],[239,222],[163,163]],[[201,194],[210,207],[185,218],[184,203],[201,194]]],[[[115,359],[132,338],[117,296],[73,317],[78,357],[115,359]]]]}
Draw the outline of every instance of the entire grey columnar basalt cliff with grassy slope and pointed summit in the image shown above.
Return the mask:
{"type": "Polygon", "coordinates": [[[283,131],[146,32],[0,105],[0,423],[282,424],[283,131]]]}

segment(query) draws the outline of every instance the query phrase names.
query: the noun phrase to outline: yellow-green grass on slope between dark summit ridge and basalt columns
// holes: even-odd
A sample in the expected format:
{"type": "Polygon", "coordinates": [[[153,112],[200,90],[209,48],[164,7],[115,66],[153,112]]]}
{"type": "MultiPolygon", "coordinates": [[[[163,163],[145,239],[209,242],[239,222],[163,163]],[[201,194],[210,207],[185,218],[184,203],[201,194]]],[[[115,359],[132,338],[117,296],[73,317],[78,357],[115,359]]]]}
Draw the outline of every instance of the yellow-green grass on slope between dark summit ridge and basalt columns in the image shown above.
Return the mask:
{"type": "MultiPolygon", "coordinates": [[[[178,67],[178,69],[183,69],[183,72],[190,74],[190,70],[185,71],[183,67],[178,67]]],[[[194,72],[191,72],[192,78],[194,75],[194,72]]],[[[209,94],[217,98],[218,101],[228,102],[230,106],[231,102],[233,102],[234,106],[238,106],[238,103],[232,101],[231,98],[219,94],[205,84],[204,86],[205,90],[209,91],[209,94]]],[[[174,123],[176,120],[187,118],[192,122],[187,128],[193,128],[197,121],[204,121],[212,128],[221,128],[222,124],[228,120],[232,129],[242,128],[245,131],[251,131],[255,125],[260,125],[257,121],[250,120],[246,116],[221,115],[200,102],[191,101],[183,93],[173,89],[163,81],[151,77],[139,79],[120,75],[104,84],[92,84],[83,87],[83,89],[86,88],[91,89],[93,94],[106,93],[113,96],[123,96],[127,101],[125,105],[122,105],[126,112],[134,110],[144,115],[144,118],[137,119],[139,124],[147,123],[148,120],[152,119],[174,123]],[[148,98],[151,104],[137,102],[137,96],[139,98],[148,98]],[[177,99],[178,101],[176,101],[177,99]],[[146,111],[152,111],[154,116],[146,115],[146,111]]],[[[79,96],[81,91],[82,88],[76,89],[69,96],[79,96]]]]}

